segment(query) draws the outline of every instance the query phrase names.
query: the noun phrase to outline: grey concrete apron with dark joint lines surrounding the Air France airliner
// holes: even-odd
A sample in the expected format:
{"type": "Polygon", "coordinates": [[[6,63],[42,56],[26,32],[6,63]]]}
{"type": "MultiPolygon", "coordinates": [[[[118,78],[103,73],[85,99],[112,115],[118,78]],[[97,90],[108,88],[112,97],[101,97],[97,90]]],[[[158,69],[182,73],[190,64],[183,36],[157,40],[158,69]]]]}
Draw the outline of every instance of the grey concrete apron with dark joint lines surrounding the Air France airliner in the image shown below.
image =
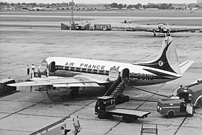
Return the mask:
{"type": "MultiPolygon", "coordinates": [[[[61,31],[49,29],[0,29],[0,79],[12,77],[17,80],[29,78],[26,65],[35,64],[49,56],[90,58],[134,63],[154,59],[160,50],[164,36],[153,37],[145,32],[116,31],[61,31]]],[[[184,76],[166,84],[129,87],[124,94],[130,101],[118,108],[150,111],[145,118],[132,123],[114,119],[98,119],[94,115],[96,95],[83,96],[65,102],[51,101],[45,92],[30,92],[30,88],[18,88],[18,92],[0,97],[0,134],[27,135],[66,116],[78,115],[81,123],[79,135],[138,135],[141,126],[158,126],[159,135],[200,135],[202,132],[202,108],[193,117],[164,118],[156,112],[156,94],[171,95],[179,85],[187,85],[202,78],[202,34],[172,34],[179,61],[194,60],[195,63],[184,76]]],[[[90,90],[89,90],[90,91],[90,90]]],[[[94,91],[94,89],[93,89],[94,91]]],[[[86,95],[88,91],[84,91],[86,95]],[[85,93],[86,92],[86,93],[85,93]]],[[[71,118],[67,126],[72,126],[71,118]]]]}

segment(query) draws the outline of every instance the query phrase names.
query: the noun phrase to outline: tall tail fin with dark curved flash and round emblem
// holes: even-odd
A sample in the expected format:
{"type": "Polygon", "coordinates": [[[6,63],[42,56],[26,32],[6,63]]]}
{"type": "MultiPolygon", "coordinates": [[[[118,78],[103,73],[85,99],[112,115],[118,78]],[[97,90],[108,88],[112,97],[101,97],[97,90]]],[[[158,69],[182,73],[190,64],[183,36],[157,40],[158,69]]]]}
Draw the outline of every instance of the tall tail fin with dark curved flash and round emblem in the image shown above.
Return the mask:
{"type": "Polygon", "coordinates": [[[184,73],[184,70],[188,69],[188,67],[191,65],[186,66],[186,69],[183,68],[183,71],[181,72],[175,45],[172,44],[172,42],[172,37],[166,37],[162,42],[160,53],[155,60],[150,62],[136,63],[136,65],[157,68],[181,75],[184,73]]]}

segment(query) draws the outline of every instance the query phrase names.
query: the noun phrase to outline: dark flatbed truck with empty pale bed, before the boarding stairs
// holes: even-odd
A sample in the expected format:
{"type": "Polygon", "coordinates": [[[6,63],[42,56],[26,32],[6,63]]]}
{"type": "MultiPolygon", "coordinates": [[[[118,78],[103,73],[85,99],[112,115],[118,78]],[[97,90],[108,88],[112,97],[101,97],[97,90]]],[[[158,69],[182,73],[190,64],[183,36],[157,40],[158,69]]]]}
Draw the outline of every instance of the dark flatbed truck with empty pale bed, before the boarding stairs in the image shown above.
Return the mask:
{"type": "Polygon", "coordinates": [[[138,118],[147,117],[150,112],[143,112],[137,110],[127,110],[115,108],[115,99],[110,96],[98,97],[95,105],[95,114],[98,118],[105,119],[110,118],[113,115],[122,116],[123,121],[131,122],[138,118]]]}

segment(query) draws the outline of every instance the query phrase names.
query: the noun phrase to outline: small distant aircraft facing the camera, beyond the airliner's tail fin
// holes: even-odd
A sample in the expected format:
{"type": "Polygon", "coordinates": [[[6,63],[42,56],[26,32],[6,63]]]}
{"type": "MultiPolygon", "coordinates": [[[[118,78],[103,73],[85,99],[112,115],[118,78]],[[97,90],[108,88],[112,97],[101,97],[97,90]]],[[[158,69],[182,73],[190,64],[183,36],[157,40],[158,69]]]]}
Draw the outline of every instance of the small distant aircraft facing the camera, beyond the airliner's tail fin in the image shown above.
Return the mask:
{"type": "Polygon", "coordinates": [[[174,29],[170,28],[170,26],[164,23],[159,23],[157,27],[154,28],[137,28],[135,31],[146,31],[146,32],[153,32],[154,36],[156,36],[156,33],[164,33],[165,36],[170,36],[170,33],[176,33],[176,32],[186,32],[186,31],[195,31],[200,29],[174,29]]]}

